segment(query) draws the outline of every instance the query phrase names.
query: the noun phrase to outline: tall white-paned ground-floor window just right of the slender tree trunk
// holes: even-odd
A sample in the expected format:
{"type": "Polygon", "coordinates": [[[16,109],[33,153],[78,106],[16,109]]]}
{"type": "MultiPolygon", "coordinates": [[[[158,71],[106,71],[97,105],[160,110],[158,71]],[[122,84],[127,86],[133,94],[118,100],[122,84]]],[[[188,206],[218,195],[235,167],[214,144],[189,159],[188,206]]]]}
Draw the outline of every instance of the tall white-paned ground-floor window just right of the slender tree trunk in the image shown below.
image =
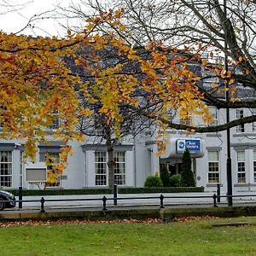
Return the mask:
{"type": "Polygon", "coordinates": [[[114,183],[125,185],[125,152],[114,152],[113,157],[115,162],[114,183]]]}

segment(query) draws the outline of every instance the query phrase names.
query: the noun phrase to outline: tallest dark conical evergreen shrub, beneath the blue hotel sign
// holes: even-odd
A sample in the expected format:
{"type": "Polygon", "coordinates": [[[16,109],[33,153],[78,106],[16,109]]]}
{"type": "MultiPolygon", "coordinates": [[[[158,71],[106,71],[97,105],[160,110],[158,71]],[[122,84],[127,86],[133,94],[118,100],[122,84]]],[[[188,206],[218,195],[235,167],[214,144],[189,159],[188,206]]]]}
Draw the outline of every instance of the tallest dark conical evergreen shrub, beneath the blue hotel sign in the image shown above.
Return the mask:
{"type": "Polygon", "coordinates": [[[181,185],[183,187],[195,187],[195,177],[191,170],[191,156],[188,148],[183,153],[181,185]]]}

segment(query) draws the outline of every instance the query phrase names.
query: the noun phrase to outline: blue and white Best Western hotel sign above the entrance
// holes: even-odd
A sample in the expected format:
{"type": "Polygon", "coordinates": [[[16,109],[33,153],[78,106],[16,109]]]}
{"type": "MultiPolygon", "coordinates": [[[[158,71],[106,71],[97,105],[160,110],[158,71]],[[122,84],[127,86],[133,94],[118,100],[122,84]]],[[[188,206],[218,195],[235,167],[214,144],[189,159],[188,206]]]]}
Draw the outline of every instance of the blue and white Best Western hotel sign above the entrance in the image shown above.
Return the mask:
{"type": "Polygon", "coordinates": [[[177,139],[176,153],[183,154],[185,148],[189,149],[190,154],[201,154],[200,139],[177,139]]]}

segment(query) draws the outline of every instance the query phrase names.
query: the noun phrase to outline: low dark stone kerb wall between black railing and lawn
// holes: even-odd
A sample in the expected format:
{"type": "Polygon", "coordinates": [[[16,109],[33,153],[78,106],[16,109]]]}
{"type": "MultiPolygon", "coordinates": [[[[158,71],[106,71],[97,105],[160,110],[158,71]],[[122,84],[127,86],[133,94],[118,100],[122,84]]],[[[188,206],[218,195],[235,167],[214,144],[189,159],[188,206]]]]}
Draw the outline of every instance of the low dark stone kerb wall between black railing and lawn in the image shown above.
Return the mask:
{"type": "Polygon", "coordinates": [[[113,220],[113,219],[173,219],[189,216],[216,216],[239,217],[256,216],[256,207],[154,207],[154,208],[115,208],[107,211],[85,209],[79,211],[48,211],[46,212],[1,212],[0,221],[10,220],[48,220],[48,219],[86,219],[86,220],[113,220]]]}

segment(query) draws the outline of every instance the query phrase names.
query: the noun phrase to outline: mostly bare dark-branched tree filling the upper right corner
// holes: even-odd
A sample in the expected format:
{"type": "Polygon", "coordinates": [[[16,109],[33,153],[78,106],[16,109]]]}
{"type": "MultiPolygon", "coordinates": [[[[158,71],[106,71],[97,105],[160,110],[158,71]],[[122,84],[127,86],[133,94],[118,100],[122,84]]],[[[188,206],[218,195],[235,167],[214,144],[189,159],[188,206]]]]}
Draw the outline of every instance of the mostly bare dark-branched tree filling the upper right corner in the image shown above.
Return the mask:
{"type": "MultiPolygon", "coordinates": [[[[81,0],[65,10],[70,18],[84,19],[104,13],[109,8],[116,9],[117,6],[124,10],[121,16],[123,29],[120,31],[107,22],[98,26],[98,31],[115,31],[129,45],[144,47],[149,42],[161,41],[172,49],[184,49],[185,46],[185,50],[194,55],[194,60],[197,58],[196,61],[201,63],[199,90],[204,95],[204,102],[218,109],[256,107],[252,98],[256,86],[254,1],[115,0],[106,3],[81,0]],[[227,63],[224,63],[224,55],[227,63]],[[227,68],[224,68],[225,64],[227,68]],[[210,78],[218,79],[219,83],[212,83],[212,88],[204,87],[204,80],[210,78]],[[237,84],[247,88],[247,94],[237,88],[237,84]],[[229,100],[224,102],[222,98],[227,90],[229,100]],[[242,101],[239,100],[240,95],[242,101]]],[[[182,64],[191,60],[191,55],[187,55],[179,61],[182,64]]],[[[165,119],[162,121],[173,128],[184,129],[182,125],[165,119]]],[[[195,127],[193,130],[223,131],[253,121],[254,115],[233,120],[229,124],[195,127]]]]}

